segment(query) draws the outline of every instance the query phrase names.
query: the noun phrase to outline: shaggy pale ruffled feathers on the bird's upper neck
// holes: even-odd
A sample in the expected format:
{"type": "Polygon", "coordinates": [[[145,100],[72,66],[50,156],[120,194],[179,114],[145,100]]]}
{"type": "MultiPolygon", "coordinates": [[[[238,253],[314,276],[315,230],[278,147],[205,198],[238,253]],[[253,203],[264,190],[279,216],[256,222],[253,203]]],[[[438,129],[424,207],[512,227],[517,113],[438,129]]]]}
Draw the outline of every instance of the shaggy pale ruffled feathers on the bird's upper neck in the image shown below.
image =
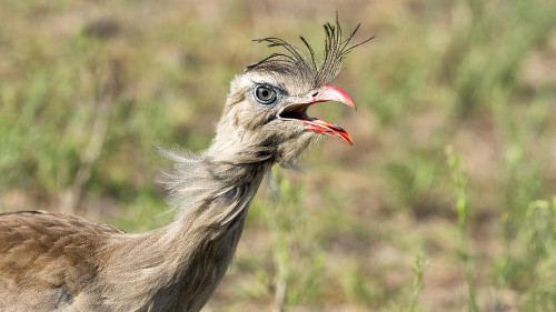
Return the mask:
{"type": "MultiPolygon", "coordinates": [[[[257,191],[272,164],[271,149],[238,145],[231,141],[215,142],[201,153],[159,149],[163,155],[176,161],[173,171],[165,173],[163,183],[169,190],[177,219],[212,202],[220,208],[238,205],[251,191],[257,191]]],[[[215,214],[211,223],[224,225],[221,222],[226,223],[235,217],[224,214],[227,217],[224,220],[215,214]]]]}

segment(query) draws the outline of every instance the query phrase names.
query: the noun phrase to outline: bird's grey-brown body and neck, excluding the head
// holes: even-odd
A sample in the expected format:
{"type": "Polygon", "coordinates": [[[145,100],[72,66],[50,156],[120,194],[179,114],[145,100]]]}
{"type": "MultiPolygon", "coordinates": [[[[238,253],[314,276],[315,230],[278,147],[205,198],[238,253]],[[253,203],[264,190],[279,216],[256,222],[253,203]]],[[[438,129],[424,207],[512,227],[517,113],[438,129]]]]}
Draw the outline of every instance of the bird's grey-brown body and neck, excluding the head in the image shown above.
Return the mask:
{"type": "Polygon", "coordinates": [[[43,211],[0,214],[0,311],[199,311],[268,170],[205,157],[190,168],[199,177],[188,175],[199,202],[143,234],[43,211]],[[218,177],[230,171],[244,179],[218,177]]]}

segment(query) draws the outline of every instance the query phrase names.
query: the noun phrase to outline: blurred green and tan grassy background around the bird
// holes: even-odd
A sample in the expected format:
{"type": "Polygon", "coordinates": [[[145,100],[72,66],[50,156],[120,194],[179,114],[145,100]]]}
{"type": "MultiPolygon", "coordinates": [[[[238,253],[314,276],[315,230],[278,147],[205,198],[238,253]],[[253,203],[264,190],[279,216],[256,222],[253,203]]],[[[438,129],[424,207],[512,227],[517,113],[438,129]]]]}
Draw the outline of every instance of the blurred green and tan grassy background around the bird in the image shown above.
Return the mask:
{"type": "Polygon", "coordinates": [[[0,212],[171,221],[153,142],[202,150],[279,37],[361,23],[203,311],[556,311],[556,1],[2,0],[0,212]]]}

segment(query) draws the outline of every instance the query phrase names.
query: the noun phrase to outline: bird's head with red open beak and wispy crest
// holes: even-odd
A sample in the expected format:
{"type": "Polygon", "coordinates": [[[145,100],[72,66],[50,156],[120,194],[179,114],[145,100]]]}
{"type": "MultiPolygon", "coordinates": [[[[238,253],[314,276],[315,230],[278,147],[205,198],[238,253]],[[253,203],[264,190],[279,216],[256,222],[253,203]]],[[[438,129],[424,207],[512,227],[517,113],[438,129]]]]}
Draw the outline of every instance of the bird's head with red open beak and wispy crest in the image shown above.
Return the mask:
{"type": "Polygon", "coordinates": [[[231,82],[224,115],[218,124],[216,141],[220,144],[244,144],[247,149],[262,149],[280,164],[291,164],[319,134],[334,137],[353,144],[349,134],[331,122],[309,117],[307,109],[319,102],[336,101],[353,109],[351,98],[329,83],[341,69],[341,60],[355,47],[341,29],[326,23],[325,50],[317,63],[312,48],[300,37],[308,54],[278,38],[256,40],[269,47],[281,47],[286,53],[274,53],[249,66],[231,82]]]}

